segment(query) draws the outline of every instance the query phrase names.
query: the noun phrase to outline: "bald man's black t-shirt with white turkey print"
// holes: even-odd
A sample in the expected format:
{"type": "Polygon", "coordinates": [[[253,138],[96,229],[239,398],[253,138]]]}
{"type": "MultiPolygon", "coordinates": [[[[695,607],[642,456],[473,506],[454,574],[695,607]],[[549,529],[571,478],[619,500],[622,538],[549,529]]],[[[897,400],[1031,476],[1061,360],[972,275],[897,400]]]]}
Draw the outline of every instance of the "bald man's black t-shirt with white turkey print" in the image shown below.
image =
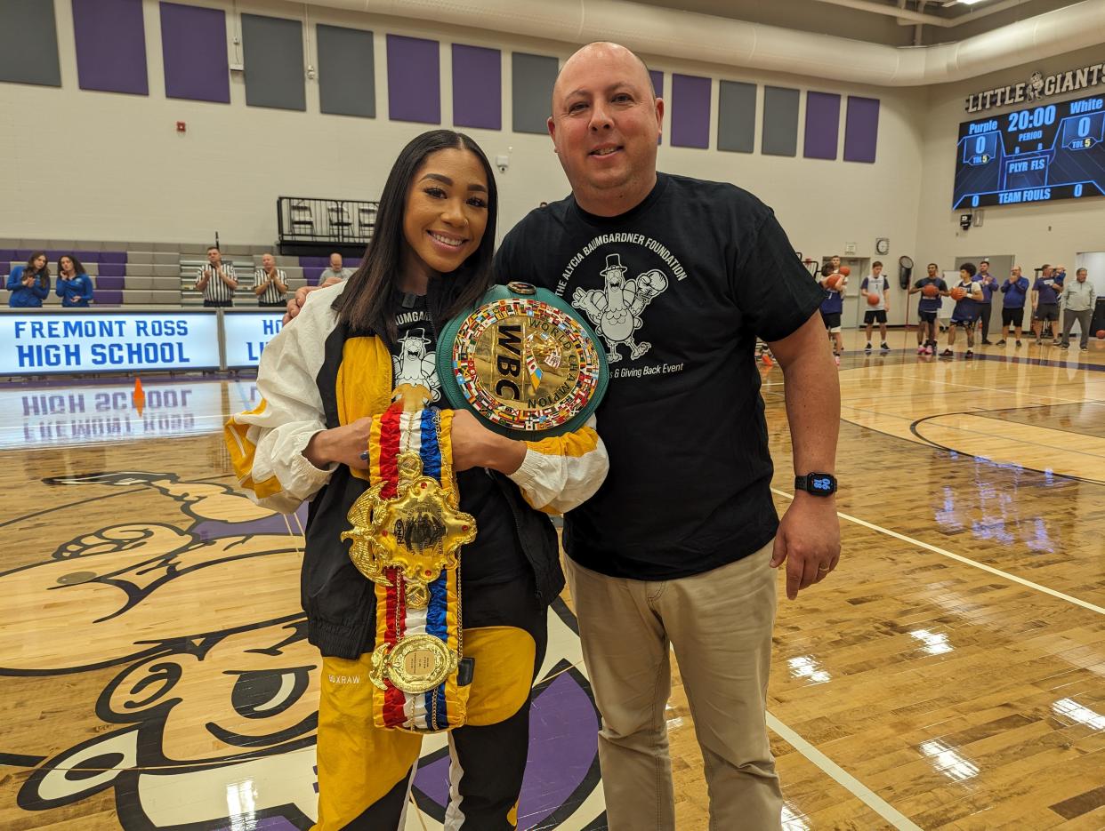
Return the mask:
{"type": "Polygon", "coordinates": [[[771,540],[756,338],[794,332],[823,292],[769,207],[730,184],[663,173],[615,217],[568,196],[507,234],[496,276],[578,305],[611,358],[597,414],[610,473],[567,516],[572,560],[669,579],[771,540]]]}

